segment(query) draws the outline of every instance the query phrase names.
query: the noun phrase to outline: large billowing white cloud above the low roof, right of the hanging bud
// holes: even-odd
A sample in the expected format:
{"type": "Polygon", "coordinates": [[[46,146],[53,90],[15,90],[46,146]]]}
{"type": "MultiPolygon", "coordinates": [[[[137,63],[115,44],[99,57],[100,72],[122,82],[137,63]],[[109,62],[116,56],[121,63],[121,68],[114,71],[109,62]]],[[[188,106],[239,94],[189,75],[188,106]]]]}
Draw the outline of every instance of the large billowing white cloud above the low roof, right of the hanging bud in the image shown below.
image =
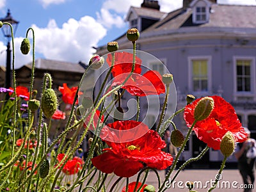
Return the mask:
{"type": "Polygon", "coordinates": [[[47,28],[35,30],[35,49],[45,58],[88,63],[97,43],[106,35],[106,29],[89,16],[80,20],[69,19],[58,28],[55,20],[50,20],[47,28]]]}

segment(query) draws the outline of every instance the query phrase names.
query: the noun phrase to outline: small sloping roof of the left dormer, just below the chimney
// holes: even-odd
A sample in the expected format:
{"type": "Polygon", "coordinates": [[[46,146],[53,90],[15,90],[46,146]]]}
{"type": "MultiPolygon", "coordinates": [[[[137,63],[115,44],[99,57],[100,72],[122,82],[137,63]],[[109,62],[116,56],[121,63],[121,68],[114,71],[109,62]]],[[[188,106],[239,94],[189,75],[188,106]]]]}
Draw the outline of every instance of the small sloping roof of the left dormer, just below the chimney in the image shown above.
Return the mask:
{"type": "Polygon", "coordinates": [[[128,20],[131,10],[133,10],[136,13],[136,15],[138,15],[139,17],[143,16],[143,17],[149,17],[154,19],[161,19],[164,17],[164,15],[166,15],[165,12],[160,12],[159,10],[156,10],[156,9],[145,8],[145,7],[137,8],[137,7],[131,6],[125,20],[128,20]]]}

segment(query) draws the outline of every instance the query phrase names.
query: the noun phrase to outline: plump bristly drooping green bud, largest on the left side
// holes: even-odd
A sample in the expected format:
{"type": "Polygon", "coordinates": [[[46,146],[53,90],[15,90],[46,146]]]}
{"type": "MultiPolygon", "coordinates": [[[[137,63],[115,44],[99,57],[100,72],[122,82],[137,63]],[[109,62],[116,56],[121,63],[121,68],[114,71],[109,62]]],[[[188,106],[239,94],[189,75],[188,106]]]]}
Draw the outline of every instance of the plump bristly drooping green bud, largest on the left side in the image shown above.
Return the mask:
{"type": "Polygon", "coordinates": [[[54,114],[58,106],[57,96],[54,90],[52,90],[51,88],[45,90],[42,95],[41,102],[41,107],[44,115],[47,118],[50,118],[54,114]]]}

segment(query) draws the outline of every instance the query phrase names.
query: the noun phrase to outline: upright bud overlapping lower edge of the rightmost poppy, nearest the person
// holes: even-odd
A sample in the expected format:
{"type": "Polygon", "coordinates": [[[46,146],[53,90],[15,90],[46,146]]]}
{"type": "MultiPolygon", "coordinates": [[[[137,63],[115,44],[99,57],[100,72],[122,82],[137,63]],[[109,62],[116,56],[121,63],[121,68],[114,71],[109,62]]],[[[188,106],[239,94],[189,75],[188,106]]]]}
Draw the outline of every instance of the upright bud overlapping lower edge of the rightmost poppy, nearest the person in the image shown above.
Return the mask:
{"type": "Polygon", "coordinates": [[[235,150],[235,140],[232,132],[226,132],[225,136],[223,136],[220,142],[220,151],[225,157],[231,156],[231,154],[235,150]]]}

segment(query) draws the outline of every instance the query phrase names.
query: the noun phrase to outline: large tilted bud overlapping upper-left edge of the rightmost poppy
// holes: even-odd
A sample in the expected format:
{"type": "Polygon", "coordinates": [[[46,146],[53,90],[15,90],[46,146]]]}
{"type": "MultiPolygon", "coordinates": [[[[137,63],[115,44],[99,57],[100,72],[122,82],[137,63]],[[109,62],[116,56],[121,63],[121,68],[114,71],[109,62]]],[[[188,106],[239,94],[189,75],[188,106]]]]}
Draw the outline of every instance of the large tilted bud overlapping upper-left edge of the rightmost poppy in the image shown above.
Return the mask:
{"type": "Polygon", "coordinates": [[[214,100],[211,97],[204,97],[199,100],[194,111],[195,120],[201,121],[207,118],[214,108],[214,100]]]}

